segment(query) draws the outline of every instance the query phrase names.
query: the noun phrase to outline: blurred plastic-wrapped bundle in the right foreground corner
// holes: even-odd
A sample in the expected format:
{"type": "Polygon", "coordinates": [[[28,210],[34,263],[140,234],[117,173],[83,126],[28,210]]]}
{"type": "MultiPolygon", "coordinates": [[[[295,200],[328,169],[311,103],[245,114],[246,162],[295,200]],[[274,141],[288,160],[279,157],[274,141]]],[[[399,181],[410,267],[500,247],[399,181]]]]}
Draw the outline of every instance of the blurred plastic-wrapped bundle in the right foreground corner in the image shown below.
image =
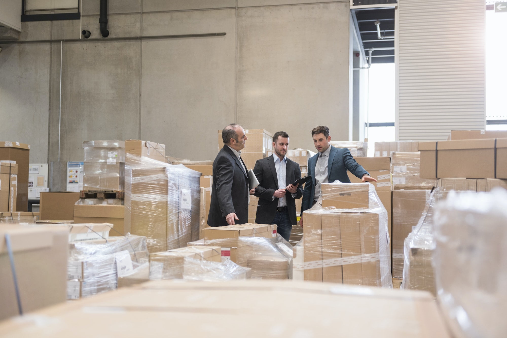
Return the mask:
{"type": "Polygon", "coordinates": [[[456,337],[507,330],[507,192],[450,192],[436,206],[438,300],[456,337]]]}

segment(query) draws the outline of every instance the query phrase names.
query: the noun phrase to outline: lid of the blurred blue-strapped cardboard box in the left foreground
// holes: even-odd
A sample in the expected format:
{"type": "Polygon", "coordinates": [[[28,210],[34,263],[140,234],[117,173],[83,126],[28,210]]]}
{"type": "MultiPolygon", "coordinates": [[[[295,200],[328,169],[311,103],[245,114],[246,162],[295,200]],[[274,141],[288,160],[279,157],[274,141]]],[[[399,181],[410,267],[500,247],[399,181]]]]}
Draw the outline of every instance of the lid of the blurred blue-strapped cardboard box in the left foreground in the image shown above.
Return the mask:
{"type": "Polygon", "coordinates": [[[52,246],[55,230],[61,229],[53,226],[23,227],[19,225],[2,225],[0,227],[0,254],[7,252],[6,234],[10,235],[13,251],[18,252],[52,246]]]}

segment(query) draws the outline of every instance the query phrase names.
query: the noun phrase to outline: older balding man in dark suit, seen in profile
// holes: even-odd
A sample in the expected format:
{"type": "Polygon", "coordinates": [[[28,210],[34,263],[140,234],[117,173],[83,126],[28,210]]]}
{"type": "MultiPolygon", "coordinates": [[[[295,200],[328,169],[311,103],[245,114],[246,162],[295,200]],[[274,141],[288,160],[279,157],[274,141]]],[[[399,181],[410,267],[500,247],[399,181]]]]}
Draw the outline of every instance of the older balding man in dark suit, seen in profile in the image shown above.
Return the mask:
{"type": "Polygon", "coordinates": [[[213,161],[213,185],[208,215],[210,227],[248,222],[248,172],[241,149],[248,138],[241,125],[231,123],[222,131],[224,147],[213,161]]]}

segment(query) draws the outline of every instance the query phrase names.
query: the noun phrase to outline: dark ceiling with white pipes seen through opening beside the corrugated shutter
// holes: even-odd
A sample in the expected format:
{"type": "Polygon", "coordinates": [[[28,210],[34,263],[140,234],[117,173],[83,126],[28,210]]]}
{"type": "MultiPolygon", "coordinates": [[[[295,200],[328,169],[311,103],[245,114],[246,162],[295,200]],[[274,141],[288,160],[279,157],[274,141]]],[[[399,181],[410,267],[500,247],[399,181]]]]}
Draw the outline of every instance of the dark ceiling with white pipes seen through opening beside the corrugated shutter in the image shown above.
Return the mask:
{"type": "Polygon", "coordinates": [[[394,8],[373,8],[352,10],[354,25],[359,37],[359,44],[363,44],[365,55],[368,56],[370,48],[392,48],[389,50],[374,50],[372,63],[394,62],[394,8]],[[380,22],[380,34],[378,38],[377,26],[380,22]]]}

